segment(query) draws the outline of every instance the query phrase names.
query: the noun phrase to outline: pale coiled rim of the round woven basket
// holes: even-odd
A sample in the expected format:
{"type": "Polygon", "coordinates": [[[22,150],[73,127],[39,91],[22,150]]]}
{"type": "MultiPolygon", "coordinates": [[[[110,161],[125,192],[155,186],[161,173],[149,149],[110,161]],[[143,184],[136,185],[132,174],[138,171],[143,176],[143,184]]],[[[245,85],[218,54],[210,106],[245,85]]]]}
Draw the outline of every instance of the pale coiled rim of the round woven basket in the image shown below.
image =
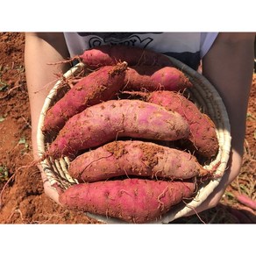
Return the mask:
{"type": "MultiPolygon", "coordinates": [[[[185,75],[188,76],[188,79],[195,84],[195,86],[192,89],[189,89],[189,92],[191,92],[192,94],[193,92],[194,94],[196,92],[196,96],[200,97],[200,99],[201,98],[203,99],[204,96],[206,95],[210,96],[210,98],[206,96],[206,99],[203,99],[203,101],[210,103],[210,105],[213,106],[212,111],[214,115],[217,115],[221,119],[221,121],[219,122],[221,123],[221,125],[218,128],[219,131],[217,131],[217,134],[219,136],[218,140],[221,140],[221,145],[219,145],[219,151],[217,153],[216,159],[212,160],[210,162],[210,165],[205,167],[210,168],[212,166],[215,166],[219,161],[221,161],[221,163],[217,167],[217,173],[219,174],[218,178],[210,180],[205,186],[200,188],[196,193],[196,197],[191,202],[189,202],[185,206],[181,205],[181,206],[178,206],[177,208],[174,208],[168,211],[159,220],[151,222],[153,224],[169,223],[178,217],[184,216],[185,214],[187,214],[188,212],[190,212],[191,210],[199,206],[201,203],[203,203],[203,201],[206,200],[208,196],[210,196],[212,191],[217,187],[217,185],[221,181],[221,178],[224,174],[226,165],[230,157],[230,151],[231,151],[231,126],[229,122],[229,117],[228,117],[227,110],[224,106],[224,102],[221,96],[218,94],[217,89],[210,83],[210,81],[206,77],[204,77],[202,74],[200,74],[196,70],[188,67],[188,65],[184,64],[180,60],[177,60],[170,56],[167,56],[167,57],[169,58],[169,60],[172,61],[175,68],[178,68],[182,72],[184,72],[185,75]],[[214,101],[214,103],[212,103],[212,101],[214,101]]],[[[74,67],[70,68],[63,75],[63,77],[68,78],[71,75],[75,75],[83,67],[84,67],[84,64],[82,62],[79,62],[74,67]]],[[[60,82],[61,82],[61,79],[58,82],[56,82],[55,85],[53,86],[53,89],[50,90],[48,96],[46,97],[45,103],[42,107],[42,110],[40,112],[39,125],[37,130],[38,154],[40,158],[44,155],[45,147],[46,147],[45,136],[42,133],[42,126],[44,124],[45,113],[46,113],[46,110],[49,108],[54,96],[56,96],[57,94],[57,89],[60,86],[60,82]]],[[[214,123],[216,123],[216,120],[214,120],[214,123]]],[[[55,174],[52,173],[51,167],[49,167],[50,165],[47,159],[41,161],[41,166],[43,168],[43,171],[46,173],[47,178],[50,180],[50,184],[52,186],[55,181],[58,182],[56,180],[55,174]]],[[[103,217],[103,216],[98,216],[98,215],[87,213],[87,212],[85,212],[85,214],[105,224],[123,223],[123,221],[116,219],[114,217],[103,217]]]]}

